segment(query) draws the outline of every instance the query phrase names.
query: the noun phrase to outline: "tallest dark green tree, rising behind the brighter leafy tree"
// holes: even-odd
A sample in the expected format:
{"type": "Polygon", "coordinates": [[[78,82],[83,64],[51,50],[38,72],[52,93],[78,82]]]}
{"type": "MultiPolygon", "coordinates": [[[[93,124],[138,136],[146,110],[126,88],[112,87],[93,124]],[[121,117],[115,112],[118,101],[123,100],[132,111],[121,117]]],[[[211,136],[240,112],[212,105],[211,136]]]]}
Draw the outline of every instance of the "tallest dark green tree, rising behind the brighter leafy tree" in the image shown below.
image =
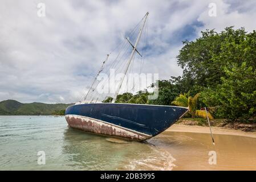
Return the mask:
{"type": "Polygon", "coordinates": [[[182,92],[195,94],[202,88],[216,87],[226,76],[224,67],[231,68],[234,63],[246,61],[253,70],[256,67],[255,31],[247,33],[245,28],[233,27],[220,33],[206,30],[200,38],[183,44],[177,63],[184,71],[182,77],[173,79],[182,85],[182,92]]]}

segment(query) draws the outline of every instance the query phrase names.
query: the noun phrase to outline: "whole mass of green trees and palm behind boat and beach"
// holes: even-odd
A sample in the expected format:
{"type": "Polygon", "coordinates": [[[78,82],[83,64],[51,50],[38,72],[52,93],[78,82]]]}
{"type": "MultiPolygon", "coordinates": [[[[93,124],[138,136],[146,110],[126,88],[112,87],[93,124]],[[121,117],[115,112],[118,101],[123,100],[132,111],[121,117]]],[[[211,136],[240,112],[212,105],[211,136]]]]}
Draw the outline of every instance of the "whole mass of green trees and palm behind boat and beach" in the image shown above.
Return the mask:
{"type": "Polygon", "coordinates": [[[207,106],[214,118],[255,122],[256,31],[206,30],[200,38],[183,44],[177,56],[183,74],[159,80],[157,100],[147,100],[153,93],[139,92],[120,95],[116,102],[189,106],[191,117],[205,117],[200,108],[207,106]]]}

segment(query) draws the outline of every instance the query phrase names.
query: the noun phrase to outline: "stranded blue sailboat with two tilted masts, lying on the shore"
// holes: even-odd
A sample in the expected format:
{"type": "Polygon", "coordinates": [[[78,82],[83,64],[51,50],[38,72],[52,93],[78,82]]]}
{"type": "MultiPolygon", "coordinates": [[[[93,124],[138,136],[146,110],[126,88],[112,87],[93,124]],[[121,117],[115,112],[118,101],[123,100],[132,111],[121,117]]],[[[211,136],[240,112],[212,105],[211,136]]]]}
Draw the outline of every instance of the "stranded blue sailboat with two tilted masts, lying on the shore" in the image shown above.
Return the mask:
{"type": "MultiPolygon", "coordinates": [[[[149,13],[145,14],[141,21],[135,44],[127,39],[132,51],[124,75],[127,74],[135,53],[139,53],[137,46],[148,15],[149,13]]],[[[111,103],[79,102],[67,107],[65,117],[68,125],[99,135],[141,141],[162,133],[188,111],[188,108],[178,106],[115,103],[123,81],[124,77],[121,78],[111,103]]]]}

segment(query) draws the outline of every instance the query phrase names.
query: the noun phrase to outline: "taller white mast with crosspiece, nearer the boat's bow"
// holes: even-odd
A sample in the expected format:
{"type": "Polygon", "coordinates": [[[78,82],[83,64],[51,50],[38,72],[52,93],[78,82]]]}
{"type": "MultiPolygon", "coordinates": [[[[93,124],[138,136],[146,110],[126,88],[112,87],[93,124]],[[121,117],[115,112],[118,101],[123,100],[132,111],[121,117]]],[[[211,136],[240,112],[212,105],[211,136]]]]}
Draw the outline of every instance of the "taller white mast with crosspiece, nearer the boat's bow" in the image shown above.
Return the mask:
{"type": "MultiPolygon", "coordinates": [[[[128,61],[127,66],[126,66],[126,68],[125,68],[124,76],[122,77],[121,81],[119,82],[119,85],[118,85],[118,87],[117,87],[117,91],[116,91],[116,93],[115,93],[115,96],[113,97],[112,103],[115,103],[115,101],[116,101],[116,97],[117,97],[117,95],[118,95],[118,93],[119,93],[119,91],[120,91],[120,89],[121,89],[121,86],[122,86],[123,81],[124,81],[124,77],[125,77],[125,75],[126,75],[126,73],[127,73],[127,71],[128,71],[129,65],[131,64],[131,61],[132,61],[133,56],[134,56],[134,53],[135,53],[135,51],[137,52],[137,49],[136,49],[136,48],[137,48],[137,45],[138,45],[138,43],[139,43],[139,41],[140,41],[140,37],[141,37],[142,31],[143,31],[143,28],[144,28],[144,26],[145,26],[146,20],[147,20],[147,18],[148,18],[148,14],[149,14],[149,13],[147,12],[147,13],[145,14],[145,16],[144,16],[143,25],[142,25],[141,28],[140,28],[139,35],[137,36],[136,43],[135,43],[135,45],[133,46],[131,55],[130,55],[130,57],[129,57],[129,61],[128,61]]],[[[131,43],[130,43],[130,44],[131,44],[131,43]]]]}

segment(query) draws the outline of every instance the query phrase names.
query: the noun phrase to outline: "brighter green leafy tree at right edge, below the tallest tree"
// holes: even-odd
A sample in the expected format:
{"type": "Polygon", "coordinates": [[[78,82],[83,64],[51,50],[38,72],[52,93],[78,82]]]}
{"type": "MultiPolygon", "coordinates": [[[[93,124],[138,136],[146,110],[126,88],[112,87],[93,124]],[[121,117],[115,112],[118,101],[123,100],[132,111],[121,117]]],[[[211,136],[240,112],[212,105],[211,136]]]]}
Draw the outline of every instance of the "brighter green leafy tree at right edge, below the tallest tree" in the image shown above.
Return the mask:
{"type": "Polygon", "coordinates": [[[243,62],[241,66],[224,68],[225,77],[216,89],[206,89],[204,102],[217,106],[218,117],[231,120],[255,119],[256,117],[256,71],[243,62]]]}

